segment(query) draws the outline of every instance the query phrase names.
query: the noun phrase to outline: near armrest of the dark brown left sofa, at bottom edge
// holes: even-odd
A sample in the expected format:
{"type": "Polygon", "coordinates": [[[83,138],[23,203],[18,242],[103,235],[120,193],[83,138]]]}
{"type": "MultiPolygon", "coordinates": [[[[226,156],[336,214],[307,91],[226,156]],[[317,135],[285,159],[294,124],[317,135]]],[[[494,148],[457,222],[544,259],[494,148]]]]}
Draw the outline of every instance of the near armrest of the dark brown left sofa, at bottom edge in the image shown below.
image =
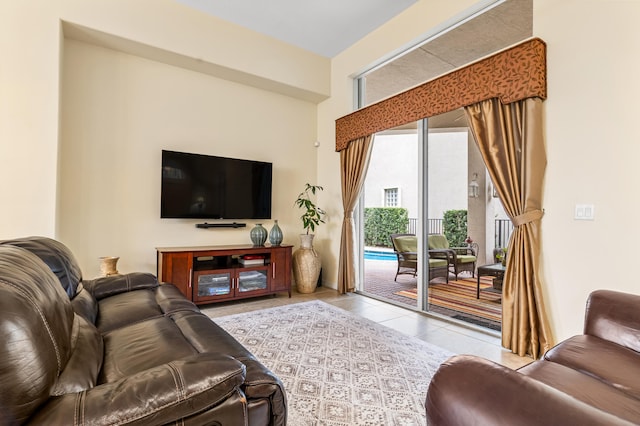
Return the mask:
{"type": "MultiPolygon", "coordinates": [[[[219,353],[173,361],[85,392],[52,397],[33,424],[136,424],[177,422],[231,401],[226,416],[246,416],[241,386],[245,367],[219,353]]],[[[220,420],[227,424],[229,418],[220,420]]]]}

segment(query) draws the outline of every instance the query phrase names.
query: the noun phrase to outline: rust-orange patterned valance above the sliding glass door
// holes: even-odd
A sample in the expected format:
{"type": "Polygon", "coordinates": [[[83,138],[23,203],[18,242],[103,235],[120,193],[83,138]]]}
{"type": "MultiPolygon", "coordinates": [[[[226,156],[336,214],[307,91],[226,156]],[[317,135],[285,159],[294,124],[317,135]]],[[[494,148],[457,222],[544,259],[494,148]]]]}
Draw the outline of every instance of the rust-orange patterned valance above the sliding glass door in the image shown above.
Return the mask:
{"type": "Polygon", "coordinates": [[[350,141],[491,98],[547,97],[546,45],[534,38],[336,120],[336,151],[350,141]]]}

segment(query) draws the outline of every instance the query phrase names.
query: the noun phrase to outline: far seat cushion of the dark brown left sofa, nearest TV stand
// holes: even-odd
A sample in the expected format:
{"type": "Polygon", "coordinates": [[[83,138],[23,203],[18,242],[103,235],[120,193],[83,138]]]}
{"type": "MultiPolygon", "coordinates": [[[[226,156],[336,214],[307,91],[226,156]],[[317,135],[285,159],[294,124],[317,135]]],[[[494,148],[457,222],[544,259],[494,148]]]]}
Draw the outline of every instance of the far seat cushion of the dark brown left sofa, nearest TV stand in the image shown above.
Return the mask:
{"type": "Polygon", "coordinates": [[[98,306],[96,326],[102,333],[180,310],[198,311],[171,284],[115,294],[101,299],[98,306]]]}

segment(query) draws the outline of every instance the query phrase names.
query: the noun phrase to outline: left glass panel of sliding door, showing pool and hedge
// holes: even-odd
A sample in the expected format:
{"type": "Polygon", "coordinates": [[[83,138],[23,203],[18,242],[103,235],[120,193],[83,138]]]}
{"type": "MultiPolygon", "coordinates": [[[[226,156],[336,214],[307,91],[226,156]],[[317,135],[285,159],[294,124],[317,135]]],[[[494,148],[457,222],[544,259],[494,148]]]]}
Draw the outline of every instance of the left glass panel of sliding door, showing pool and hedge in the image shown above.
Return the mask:
{"type": "Polygon", "coordinates": [[[360,198],[362,279],[359,291],[417,309],[420,183],[417,126],[375,135],[360,198]],[[407,253],[400,254],[394,242],[407,253]]]}

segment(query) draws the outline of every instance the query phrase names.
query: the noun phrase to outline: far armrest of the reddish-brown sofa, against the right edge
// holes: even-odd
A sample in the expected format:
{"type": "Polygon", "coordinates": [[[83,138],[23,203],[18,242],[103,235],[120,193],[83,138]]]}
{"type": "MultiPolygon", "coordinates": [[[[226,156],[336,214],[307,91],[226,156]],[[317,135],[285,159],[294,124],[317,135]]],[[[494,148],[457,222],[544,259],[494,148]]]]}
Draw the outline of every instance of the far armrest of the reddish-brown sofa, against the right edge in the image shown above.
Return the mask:
{"type": "Polygon", "coordinates": [[[640,296],[612,290],[589,295],[584,334],[640,352],[640,296]]]}

